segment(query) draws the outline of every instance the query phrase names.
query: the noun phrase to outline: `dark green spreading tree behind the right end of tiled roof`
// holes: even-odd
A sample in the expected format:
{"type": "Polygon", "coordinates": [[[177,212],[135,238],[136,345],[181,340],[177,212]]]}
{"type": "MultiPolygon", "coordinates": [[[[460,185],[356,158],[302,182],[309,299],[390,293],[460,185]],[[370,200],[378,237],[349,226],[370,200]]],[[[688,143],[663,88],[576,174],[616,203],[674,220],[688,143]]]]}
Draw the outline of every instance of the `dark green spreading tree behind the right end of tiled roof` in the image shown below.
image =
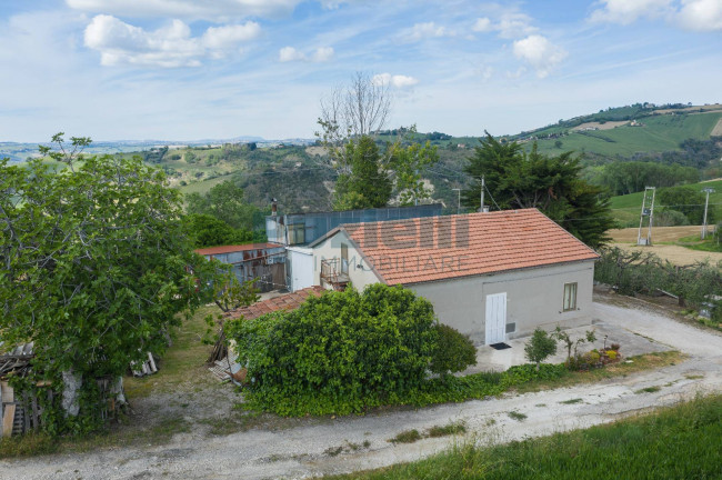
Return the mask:
{"type": "MultiPolygon", "coordinates": [[[[537,208],[591,247],[608,241],[604,232],[614,227],[609,199],[580,178],[579,159],[571,152],[548,157],[534,146],[525,153],[519,143],[502,143],[487,133],[464,171],[477,180],[484,177],[501,209],[537,208]]],[[[480,193],[477,181],[463,191],[463,203],[478,209],[480,193]]]]}

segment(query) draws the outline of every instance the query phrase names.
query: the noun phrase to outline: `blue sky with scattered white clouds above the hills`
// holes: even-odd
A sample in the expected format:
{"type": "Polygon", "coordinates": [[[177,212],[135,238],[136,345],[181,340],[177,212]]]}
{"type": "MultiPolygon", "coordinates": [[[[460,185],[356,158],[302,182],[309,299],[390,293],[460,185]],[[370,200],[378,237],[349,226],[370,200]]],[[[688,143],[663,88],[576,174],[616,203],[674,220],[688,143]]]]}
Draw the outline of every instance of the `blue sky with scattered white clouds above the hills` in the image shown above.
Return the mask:
{"type": "Polygon", "coordinates": [[[313,138],[359,71],[454,136],[722,101],[722,0],[0,0],[0,141],[313,138]]]}

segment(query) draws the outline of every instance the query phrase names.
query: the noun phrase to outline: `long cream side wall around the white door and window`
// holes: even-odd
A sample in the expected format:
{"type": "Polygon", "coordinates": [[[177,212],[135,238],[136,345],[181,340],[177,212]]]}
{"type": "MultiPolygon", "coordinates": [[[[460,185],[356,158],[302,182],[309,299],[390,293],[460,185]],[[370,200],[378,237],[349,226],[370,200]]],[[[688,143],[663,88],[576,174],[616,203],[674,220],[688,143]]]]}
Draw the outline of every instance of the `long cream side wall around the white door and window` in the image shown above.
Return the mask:
{"type": "Polygon", "coordinates": [[[484,343],[487,296],[507,293],[507,339],[591,323],[594,261],[408,286],[433,303],[439,320],[484,343]],[[564,283],[576,282],[576,310],[563,311],[564,283]]]}

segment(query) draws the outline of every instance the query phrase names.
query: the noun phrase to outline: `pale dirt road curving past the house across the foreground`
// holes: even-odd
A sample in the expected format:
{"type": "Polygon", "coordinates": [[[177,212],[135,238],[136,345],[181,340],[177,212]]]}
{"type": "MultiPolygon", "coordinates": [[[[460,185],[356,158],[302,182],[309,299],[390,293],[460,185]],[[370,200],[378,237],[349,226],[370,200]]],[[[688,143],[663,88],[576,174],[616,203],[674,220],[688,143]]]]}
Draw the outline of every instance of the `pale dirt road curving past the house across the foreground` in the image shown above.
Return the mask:
{"type": "Polygon", "coordinates": [[[251,430],[225,437],[182,433],[169,444],[146,448],[6,460],[0,461],[0,478],[308,478],[411,461],[458,441],[503,442],[589,427],[673,404],[700,391],[722,391],[722,334],[678,322],[648,310],[642,303],[623,308],[605,301],[595,303],[595,317],[602,323],[680,349],[690,356],[689,360],[599,384],[508,394],[501,399],[343,417],[284,430],[251,430]],[[635,393],[652,386],[661,390],[635,393]],[[569,399],[581,401],[560,403],[569,399]],[[513,420],[508,414],[510,411],[524,413],[527,419],[513,420]],[[425,439],[399,446],[388,441],[404,430],[421,431],[454,421],[465,422],[467,439],[425,439]]]}

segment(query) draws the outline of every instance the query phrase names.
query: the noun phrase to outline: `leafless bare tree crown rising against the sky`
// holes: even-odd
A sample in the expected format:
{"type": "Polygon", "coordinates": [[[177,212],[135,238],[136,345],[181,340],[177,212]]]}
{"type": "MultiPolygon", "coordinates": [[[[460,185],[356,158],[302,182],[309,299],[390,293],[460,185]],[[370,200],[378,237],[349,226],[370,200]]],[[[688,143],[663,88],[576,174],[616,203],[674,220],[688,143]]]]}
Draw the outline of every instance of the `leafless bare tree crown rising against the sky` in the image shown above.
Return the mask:
{"type": "Polygon", "coordinates": [[[355,72],[349,84],[333,89],[321,99],[317,133],[327,147],[339,147],[344,141],[378,132],[391,114],[389,83],[369,73],[355,72]]]}

